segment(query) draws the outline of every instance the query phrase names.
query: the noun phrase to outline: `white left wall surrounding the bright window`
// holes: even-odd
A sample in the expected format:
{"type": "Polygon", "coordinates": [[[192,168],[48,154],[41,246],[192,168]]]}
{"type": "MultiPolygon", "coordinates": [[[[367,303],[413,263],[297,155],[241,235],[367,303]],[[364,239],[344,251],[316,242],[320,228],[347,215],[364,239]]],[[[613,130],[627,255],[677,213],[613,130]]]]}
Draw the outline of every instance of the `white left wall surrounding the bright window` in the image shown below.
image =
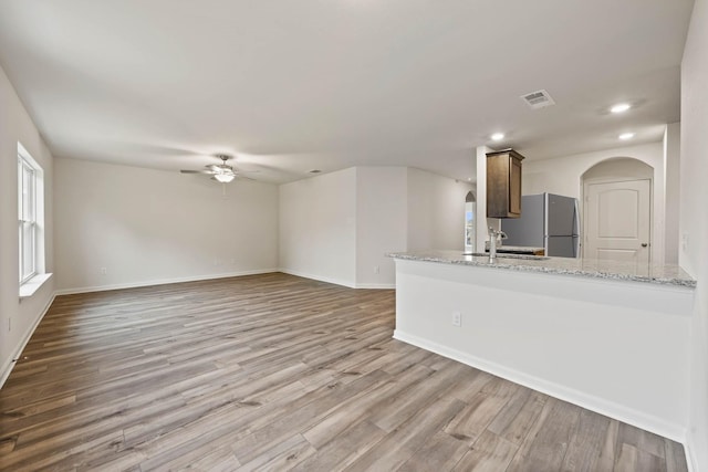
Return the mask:
{"type": "Polygon", "coordinates": [[[0,385],[54,294],[50,279],[29,298],[19,298],[18,141],[42,167],[44,178],[44,268],[54,271],[53,159],[14,87],[0,69],[0,385]]]}

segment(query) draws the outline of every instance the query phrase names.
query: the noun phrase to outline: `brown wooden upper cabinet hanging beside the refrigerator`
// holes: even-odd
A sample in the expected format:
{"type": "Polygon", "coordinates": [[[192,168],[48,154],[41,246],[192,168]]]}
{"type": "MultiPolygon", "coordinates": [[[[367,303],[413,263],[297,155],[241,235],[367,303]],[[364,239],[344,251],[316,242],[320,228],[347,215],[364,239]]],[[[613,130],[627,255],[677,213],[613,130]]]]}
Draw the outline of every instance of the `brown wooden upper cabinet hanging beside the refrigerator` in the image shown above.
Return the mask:
{"type": "Polygon", "coordinates": [[[487,154],[487,218],[521,217],[521,161],[513,149],[487,154]]]}

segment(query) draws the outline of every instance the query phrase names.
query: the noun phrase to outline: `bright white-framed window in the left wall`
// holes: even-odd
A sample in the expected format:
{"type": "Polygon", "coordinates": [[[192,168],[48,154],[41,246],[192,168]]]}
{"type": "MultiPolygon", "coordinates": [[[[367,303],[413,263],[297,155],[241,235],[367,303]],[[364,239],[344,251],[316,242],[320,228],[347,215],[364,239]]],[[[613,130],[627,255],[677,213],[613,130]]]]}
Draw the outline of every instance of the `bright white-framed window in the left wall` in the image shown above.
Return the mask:
{"type": "Polygon", "coordinates": [[[37,275],[37,172],[18,154],[19,220],[20,220],[20,284],[37,275]]]}

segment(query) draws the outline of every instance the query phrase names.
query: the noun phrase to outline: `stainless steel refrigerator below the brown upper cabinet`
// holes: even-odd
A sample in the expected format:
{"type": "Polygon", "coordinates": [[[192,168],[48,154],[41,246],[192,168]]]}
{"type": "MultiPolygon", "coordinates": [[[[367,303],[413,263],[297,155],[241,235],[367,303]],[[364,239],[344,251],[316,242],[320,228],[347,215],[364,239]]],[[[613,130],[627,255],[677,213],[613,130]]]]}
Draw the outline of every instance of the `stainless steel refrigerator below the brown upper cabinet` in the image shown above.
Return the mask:
{"type": "Polygon", "coordinates": [[[545,255],[580,256],[577,199],[554,193],[521,197],[521,217],[501,220],[504,245],[545,249],[545,255]]]}

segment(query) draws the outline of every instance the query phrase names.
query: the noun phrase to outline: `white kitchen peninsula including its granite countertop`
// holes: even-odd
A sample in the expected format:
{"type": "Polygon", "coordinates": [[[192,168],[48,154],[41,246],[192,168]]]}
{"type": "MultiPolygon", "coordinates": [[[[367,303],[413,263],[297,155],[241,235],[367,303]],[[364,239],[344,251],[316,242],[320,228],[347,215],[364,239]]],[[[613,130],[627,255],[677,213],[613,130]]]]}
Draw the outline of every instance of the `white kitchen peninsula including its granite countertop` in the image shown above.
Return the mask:
{"type": "Polygon", "coordinates": [[[389,254],[394,337],[681,441],[696,281],[677,266],[389,254]]]}

